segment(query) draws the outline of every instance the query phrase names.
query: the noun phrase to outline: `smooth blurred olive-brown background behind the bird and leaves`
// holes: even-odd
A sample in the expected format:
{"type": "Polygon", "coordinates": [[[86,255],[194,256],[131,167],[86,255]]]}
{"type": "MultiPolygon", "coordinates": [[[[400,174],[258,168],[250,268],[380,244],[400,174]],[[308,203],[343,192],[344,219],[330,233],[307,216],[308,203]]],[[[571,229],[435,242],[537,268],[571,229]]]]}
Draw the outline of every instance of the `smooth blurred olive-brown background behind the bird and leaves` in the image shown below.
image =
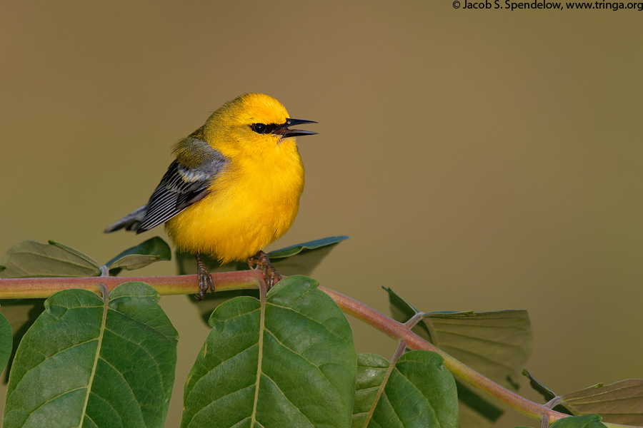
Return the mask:
{"type": "MultiPolygon", "coordinates": [[[[529,310],[557,392],[642,377],[643,12],[452,1],[3,1],[0,253],[57,240],[105,262],[165,238],[101,231],[171,146],[260,91],[301,138],[299,216],[270,249],[350,235],[314,272],[388,311],[529,310]]],[[[158,263],[142,275],[171,275],[158,263]]],[[[207,329],[184,296],[168,427],[207,329]]],[[[353,322],[359,352],[396,344],[353,322]]],[[[522,391],[529,391],[527,382],[522,391]]],[[[499,426],[536,426],[509,412],[499,426]]]]}

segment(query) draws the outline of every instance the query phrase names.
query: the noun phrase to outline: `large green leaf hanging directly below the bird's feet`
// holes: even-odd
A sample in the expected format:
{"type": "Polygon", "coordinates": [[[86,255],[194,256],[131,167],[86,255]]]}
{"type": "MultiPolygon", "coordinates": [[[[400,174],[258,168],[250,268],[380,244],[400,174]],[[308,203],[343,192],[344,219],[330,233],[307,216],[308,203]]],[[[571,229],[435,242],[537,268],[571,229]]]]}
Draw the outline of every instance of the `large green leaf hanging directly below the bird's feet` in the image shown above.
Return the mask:
{"type": "Polygon", "coordinates": [[[357,357],[344,314],[308,277],[266,305],[224,302],[184,390],[181,427],[348,427],[357,357]]]}

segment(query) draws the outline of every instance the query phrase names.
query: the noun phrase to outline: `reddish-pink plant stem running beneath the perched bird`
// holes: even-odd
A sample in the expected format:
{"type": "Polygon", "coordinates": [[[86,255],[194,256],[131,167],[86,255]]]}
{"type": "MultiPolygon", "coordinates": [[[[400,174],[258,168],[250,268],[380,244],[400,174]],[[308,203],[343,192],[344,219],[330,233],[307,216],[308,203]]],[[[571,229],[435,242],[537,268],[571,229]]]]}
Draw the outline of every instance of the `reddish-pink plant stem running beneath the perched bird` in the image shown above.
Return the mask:
{"type": "MultiPolygon", "coordinates": [[[[235,272],[216,272],[212,274],[216,291],[246,290],[260,288],[265,283],[261,270],[239,270],[235,272]]],[[[81,277],[81,278],[11,278],[0,280],[0,300],[28,299],[49,297],[61,290],[82,288],[100,294],[100,285],[104,284],[111,291],[116,285],[124,282],[146,282],[159,292],[160,295],[191,294],[199,290],[199,280],[196,275],[174,275],[167,277],[81,277]]],[[[489,394],[499,402],[517,410],[528,417],[540,420],[542,416],[549,418],[549,423],[568,417],[564,413],[555,412],[543,404],[537,404],[502,387],[491,379],[479,374],[471,367],[459,362],[451,355],[435,347],[409,330],[409,326],[397,322],[373,310],[357,300],[342,295],[339,292],[319,287],[319,290],[329,295],[347,314],[386,333],[396,340],[406,342],[414,350],[437,352],[444,358],[444,365],[452,374],[472,384],[477,389],[489,394]]],[[[611,428],[628,427],[628,425],[610,424],[611,428]]]]}

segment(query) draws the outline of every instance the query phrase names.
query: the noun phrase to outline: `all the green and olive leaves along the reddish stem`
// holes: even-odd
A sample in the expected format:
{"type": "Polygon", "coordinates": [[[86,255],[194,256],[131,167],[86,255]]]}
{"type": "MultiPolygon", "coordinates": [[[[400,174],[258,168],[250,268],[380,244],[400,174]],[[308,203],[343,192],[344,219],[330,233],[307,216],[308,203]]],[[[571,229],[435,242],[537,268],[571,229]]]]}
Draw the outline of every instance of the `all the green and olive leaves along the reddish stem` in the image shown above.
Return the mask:
{"type": "MultiPolygon", "coordinates": [[[[310,272],[344,239],[311,241],[269,256],[284,275],[310,272]]],[[[9,250],[0,277],[116,275],[170,258],[169,246],[160,238],[129,248],[105,265],[54,241],[26,241],[9,250]]],[[[194,273],[191,260],[179,255],[179,268],[194,273]]],[[[397,320],[421,317],[413,332],[506,389],[517,390],[531,351],[527,312],[424,314],[387,291],[397,320]]],[[[35,306],[26,300],[3,302],[1,365],[12,352],[7,319],[17,330],[17,341],[39,315],[16,350],[4,427],[163,426],[177,337],[154,289],[128,282],[104,298],[65,290],[46,300],[44,312],[39,300],[29,302],[34,301],[35,306]]],[[[207,304],[214,307],[213,302],[207,304]]],[[[378,355],[357,357],[347,320],[309,277],[281,280],[265,302],[236,297],[210,312],[211,333],[184,387],[182,427],[482,428],[492,427],[502,414],[479,389],[454,380],[434,352],[402,353],[403,343],[390,364],[378,355]]],[[[594,413],[611,423],[643,426],[642,379],[557,396],[525,374],[547,401],[554,399],[551,405],[559,403],[557,409],[564,406],[577,415],[552,428],[605,427],[594,413]]]]}

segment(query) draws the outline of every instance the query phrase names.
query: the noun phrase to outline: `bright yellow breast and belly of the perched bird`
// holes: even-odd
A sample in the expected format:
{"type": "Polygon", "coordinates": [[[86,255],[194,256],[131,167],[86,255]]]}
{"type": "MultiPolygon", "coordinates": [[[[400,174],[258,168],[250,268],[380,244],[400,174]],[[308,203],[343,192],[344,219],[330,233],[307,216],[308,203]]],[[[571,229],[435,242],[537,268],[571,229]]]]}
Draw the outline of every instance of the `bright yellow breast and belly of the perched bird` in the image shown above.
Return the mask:
{"type": "Polygon", "coordinates": [[[227,263],[246,260],[286,233],[304,187],[301,159],[294,154],[277,164],[264,159],[231,165],[209,195],[166,223],[174,245],[227,263]]]}

